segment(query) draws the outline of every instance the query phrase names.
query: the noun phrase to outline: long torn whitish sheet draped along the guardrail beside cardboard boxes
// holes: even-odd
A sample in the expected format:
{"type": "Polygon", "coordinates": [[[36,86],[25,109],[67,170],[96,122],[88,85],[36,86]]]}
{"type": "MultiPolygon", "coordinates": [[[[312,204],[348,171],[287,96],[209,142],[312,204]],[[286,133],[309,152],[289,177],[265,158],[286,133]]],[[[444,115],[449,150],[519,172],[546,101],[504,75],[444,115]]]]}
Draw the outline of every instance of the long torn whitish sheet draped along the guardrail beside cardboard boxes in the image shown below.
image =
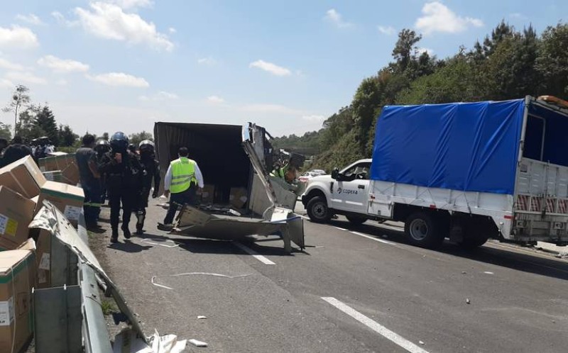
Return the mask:
{"type": "MultiPolygon", "coordinates": [[[[50,232],[53,237],[57,240],[62,242],[63,245],[68,247],[72,252],[77,254],[77,257],[86,264],[87,266],[91,267],[96,274],[98,274],[104,281],[107,286],[107,294],[114,298],[116,301],[116,305],[121,310],[121,313],[126,315],[126,318],[129,320],[129,324],[133,328],[133,332],[136,332],[138,338],[143,340],[143,342],[151,343],[151,340],[148,340],[148,337],[144,335],[142,327],[139,325],[138,320],[130,310],[130,308],[126,305],[126,301],[124,297],[119,292],[119,288],[111,281],[109,276],[105,273],[104,269],[102,269],[99,260],[97,257],[94,256],[93,252],[79,236],[77,230],[69,223],[69,220],[65,218],[65,215],[61,213],[52,203],[49,201],[43,201],[43,207],[40,209],[33,221],[30,223],[29,228],[40,228],[47,230],[50,232]]],[[[152,337],[154,337],[153,335],[152,337]]],[[[164,336],[170,337],[171,335],[164,336]]],[[[155,340],[155,338],[154,338],[155,340]]],[[[161,340],[161,338],[160,338],[161,340]]],[[[184,346],[185,347],[185,346],[184,346]]],[[[146,351],[143,351],[146,352],[146,351]]],[[[180,352],[180,351],[147,351],[153,353],[167,353],[167,352],[180,352]]]]}

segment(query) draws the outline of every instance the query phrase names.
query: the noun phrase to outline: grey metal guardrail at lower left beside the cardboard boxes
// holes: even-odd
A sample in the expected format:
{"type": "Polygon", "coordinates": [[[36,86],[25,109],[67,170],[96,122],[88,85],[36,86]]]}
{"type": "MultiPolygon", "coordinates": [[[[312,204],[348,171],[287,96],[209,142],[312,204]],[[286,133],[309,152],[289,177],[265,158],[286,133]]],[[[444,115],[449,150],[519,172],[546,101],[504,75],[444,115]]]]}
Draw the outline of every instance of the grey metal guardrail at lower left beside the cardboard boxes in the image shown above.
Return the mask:
{"type": "MultiPolygon", "coordinates": [[[[88,244],[81,214],[78,233],[88,244]]],[[[94,270],[52,242],[52,288],[35,290],[35,352],[112,353],[94,270]]]]}

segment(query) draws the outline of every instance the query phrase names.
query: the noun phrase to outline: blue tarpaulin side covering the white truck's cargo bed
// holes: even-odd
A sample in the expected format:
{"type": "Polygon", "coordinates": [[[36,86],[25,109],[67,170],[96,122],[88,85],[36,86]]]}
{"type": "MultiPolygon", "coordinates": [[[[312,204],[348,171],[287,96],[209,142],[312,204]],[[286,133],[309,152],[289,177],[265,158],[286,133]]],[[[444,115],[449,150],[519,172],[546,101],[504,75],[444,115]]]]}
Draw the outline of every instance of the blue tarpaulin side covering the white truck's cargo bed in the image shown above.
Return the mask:
{"type": "Polygon", "coordinates": [[[513,194],[524,99],[385,106],[371,179],[513,194]]]}

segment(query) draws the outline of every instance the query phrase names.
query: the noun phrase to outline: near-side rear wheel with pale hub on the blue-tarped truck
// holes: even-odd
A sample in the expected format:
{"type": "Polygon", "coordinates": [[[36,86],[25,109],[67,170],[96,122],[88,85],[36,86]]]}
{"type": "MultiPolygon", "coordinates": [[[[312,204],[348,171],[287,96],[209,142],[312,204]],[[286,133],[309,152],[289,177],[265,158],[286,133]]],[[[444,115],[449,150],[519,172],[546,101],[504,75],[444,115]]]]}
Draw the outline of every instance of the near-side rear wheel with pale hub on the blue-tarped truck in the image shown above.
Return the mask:
{"type": "Polygon", "coordinates": [[[404,231],[408,240],[419,247],[437,247],[444,240],[437,218],[426,212],[410,215],[406,219],[404,231]]]}

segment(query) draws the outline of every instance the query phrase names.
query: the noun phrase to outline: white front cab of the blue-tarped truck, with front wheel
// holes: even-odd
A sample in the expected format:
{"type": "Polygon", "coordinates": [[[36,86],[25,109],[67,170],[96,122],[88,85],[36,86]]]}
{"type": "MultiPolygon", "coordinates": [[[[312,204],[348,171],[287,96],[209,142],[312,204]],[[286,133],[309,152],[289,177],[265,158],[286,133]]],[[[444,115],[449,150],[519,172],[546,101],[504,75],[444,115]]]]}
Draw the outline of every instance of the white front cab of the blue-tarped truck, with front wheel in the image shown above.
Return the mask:
{"type": "Polygon", "coordinates": [[[354,224],[373,218],[367,213],[371,180],[371,159],[360,159],[331,175],[314,177],[302,194],[310,219],[325,223],[335,214],[346,215],[354,224]]]}

